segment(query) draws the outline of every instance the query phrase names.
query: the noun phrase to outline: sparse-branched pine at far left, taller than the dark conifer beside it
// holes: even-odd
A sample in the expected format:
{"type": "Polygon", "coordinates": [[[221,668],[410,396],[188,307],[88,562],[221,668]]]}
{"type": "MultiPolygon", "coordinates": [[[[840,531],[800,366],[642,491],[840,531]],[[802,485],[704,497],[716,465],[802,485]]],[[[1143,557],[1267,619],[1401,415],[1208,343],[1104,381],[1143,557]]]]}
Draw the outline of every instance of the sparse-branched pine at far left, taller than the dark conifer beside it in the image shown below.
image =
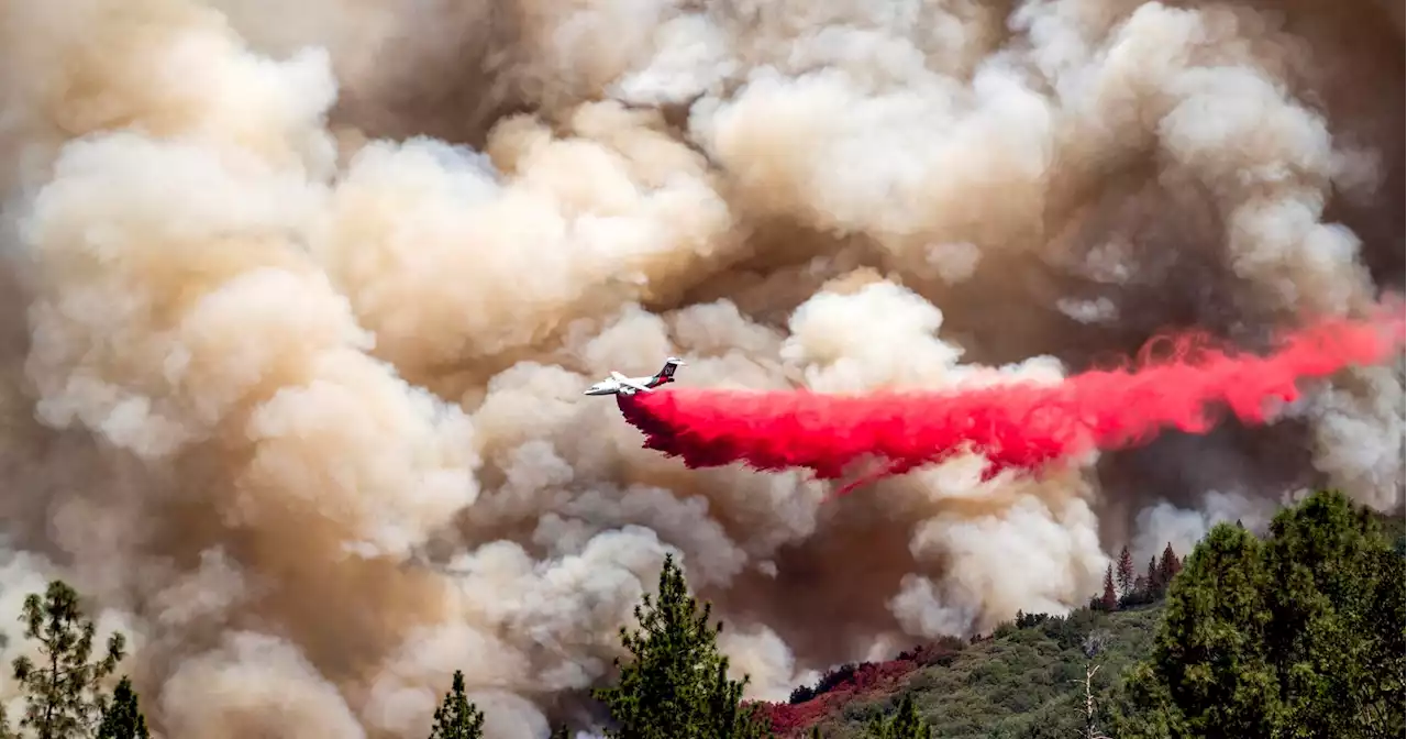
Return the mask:
{"type": "MultiPolygon", "coordinates": [[[[25,698],[20,728],[30,729],[38,739],[91,736],[108,712],[103,683],[117,671],[127,639],[113,633],[103,659],[89,662],[97,625],[84,618],[79,594],[62,580],[49,583],[42,598],[30,594],[20,621],[25,625],[25,638],[38,642],[41,656],[38,664],[30,657],[17,657],[13,663],[14,678],[25,698]]],[[[135,711],[131,683],[125,690],[135,711]]],[[[8,726],[0,731],[8,733],[8,726]]]]}

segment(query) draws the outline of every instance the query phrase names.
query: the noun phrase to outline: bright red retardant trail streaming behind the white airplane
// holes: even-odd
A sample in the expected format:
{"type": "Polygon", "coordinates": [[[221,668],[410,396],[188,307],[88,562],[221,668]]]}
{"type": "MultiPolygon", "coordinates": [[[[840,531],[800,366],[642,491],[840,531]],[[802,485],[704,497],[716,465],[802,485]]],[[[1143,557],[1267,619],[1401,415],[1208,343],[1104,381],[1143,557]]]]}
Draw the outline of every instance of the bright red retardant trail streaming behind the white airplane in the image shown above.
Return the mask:
{"type": "Polygon", "coordinates": [[[616,396],[647,449],[691,467],[741,462],[758,470],[806,467],[834,480],[862,459],[881,472],[847,484],[943,462],[965,450],[986,456],[983,479],[1002,470],[1040,472],[1092,449],[1120,449],[1159,431],[1210,431],[1214,410],[1266,424],[1300,397],[1297,383],[1348,366],[1393,359],[1407,338],[1407,311],[1375,320],[1331,320],[1280,336],[1256,356],[1214,346],[1200,335],[1155,339],[1128,367],[1090,370],[1058,384],[1009,383],[965,391],[884,390],[822,394],[681,387],[616,396]],[[1171,345],[1158,359],[1154,349],[1171,345]]]}

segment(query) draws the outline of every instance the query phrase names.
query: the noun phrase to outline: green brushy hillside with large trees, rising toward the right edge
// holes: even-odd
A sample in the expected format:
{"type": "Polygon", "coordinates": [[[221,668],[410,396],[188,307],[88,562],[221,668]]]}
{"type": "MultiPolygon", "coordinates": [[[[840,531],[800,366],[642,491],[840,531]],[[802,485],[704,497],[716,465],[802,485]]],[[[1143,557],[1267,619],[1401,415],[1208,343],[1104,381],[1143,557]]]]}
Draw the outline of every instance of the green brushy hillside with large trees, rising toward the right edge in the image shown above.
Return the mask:
{"type": "MultiPolygon", "coordinates": [[[[1407,736],[1404,535],[1404,519],[1318,493],[1263,541],[1221,525],[1131,583],[1121,552],[1086,608],[1017,614],[938,663],[806,711],[847,690],[826,676],[774,714],[815,716],[832,739],[868,736],[899,697],[944,739],[1407,736]]],[[[888,664],[841,671],[867,670],[888,664]]]]}

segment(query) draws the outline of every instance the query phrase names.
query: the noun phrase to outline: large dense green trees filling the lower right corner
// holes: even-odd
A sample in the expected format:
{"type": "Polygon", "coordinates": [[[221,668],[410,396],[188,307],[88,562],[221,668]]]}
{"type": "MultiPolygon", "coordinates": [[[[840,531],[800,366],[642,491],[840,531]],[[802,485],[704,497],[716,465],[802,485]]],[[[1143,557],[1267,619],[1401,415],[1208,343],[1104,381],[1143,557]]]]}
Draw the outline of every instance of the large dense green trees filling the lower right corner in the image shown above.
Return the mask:
{"type": "Polygon", "coordinates": [[[1366,510],[1316,493],[1263,543],[1213,528],[1172,574],[1121,738],[1407,735],[1407,571],[1366,510]]]}

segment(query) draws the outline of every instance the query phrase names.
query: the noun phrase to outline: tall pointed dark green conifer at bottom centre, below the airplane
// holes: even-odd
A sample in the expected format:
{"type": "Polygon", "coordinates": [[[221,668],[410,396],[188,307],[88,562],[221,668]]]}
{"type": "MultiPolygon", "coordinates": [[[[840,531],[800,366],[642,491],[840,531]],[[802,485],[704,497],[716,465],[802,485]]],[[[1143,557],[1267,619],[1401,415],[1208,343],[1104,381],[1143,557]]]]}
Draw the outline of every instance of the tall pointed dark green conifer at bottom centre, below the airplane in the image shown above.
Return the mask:
{"type": "Polygon", "coordinates": [[[620,629],[632,653],[615,687],[594,694],[619,725],[619,739],[753,739],[767,736],[767,722],[741,705],[741,681],[729,680],[727,657],[718,650],[723,624],[709,625],[712,604],[702,608],[688,593],[674,556],[664,557],[658,597],[635,608],[639,631],[620,629]]]}

